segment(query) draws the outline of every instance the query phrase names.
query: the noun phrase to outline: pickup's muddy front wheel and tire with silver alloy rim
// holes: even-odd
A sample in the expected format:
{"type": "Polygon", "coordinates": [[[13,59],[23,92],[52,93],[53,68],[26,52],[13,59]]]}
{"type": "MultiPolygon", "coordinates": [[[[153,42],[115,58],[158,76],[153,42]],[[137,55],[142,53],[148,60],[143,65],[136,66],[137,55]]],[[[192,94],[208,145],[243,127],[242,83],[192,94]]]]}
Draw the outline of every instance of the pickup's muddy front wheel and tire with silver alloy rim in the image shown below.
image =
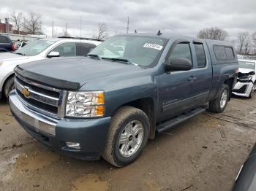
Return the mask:
{"type": "Polygon", "coordinates": [[[110,122],[108,139],[102,157],[116,167],[133,163],[146,146],[149,124],[148,117],[142,110],[132,106],[122,106],[110,122]],[[133,132],[136,129],[139,132],[138,135],[133,132]],[[132,132],[134,134],[131,134],[132,132]],[[120,137],[123,137],[123,141],[120,140],[120,137]],[[134,144],[136,141],[139,142],[134,144]],[[121,144],[122,142],[124,144],[121,144]],[[133,146],[137,148],[134,149],[133,146]],[[124,152],[126,150],[127,152],[124,152]]]}

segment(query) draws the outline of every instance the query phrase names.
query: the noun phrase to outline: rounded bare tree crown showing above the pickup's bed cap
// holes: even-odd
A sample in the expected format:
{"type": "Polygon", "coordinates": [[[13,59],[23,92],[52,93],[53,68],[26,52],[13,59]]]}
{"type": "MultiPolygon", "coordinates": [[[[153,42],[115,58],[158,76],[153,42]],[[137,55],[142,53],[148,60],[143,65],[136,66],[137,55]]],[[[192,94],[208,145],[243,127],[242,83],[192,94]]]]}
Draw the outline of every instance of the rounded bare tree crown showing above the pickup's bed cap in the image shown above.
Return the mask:
{"type": "Polygon", "coordinates": [[[227,39],[227,36],[227,31],[224,31],[221,28],[217,27],[203,28],[197,34],[197,38],[199,39],[212,39],[220,41],[225,41],[225,39],[227,39]]]}

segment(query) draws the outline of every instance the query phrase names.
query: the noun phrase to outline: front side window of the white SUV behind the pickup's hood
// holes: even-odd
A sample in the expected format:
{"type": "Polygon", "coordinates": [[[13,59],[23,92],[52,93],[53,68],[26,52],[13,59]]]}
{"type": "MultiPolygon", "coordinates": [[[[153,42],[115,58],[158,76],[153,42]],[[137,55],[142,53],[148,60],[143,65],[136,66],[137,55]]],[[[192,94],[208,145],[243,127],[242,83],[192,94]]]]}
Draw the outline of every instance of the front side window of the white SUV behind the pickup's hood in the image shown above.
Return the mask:
{"type": "Polygon", "coordinates": [[[53,48],[51,52],[59,52],[59,56],[68,57],[76,55],[75,42],[67,42],[59,44],[57,47],[53,48]]]}

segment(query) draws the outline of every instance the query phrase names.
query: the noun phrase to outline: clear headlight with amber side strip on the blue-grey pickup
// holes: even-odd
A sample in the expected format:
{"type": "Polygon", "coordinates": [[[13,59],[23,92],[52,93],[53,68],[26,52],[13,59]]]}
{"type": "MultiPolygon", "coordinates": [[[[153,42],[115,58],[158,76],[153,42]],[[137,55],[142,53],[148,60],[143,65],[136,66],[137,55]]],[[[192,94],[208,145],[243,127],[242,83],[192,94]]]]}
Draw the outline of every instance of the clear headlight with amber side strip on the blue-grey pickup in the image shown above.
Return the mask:
{"type": "Polygon", "coordinates": [[[102,117],[105,114],[104,91],[69,92],[67,95],[66,116],[102,117]]]}

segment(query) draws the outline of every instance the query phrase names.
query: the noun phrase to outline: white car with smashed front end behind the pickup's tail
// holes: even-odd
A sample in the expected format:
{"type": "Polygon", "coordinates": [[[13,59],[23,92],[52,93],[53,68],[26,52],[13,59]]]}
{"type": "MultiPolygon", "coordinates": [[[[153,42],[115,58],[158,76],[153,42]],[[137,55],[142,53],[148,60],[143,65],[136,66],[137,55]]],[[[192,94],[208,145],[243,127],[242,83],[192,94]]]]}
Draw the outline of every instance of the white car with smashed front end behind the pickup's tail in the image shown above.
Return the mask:
{"type": "Polygon", "coordinates": [[[238,79],[232,93],[252,98],[256,90],[256,61],[238,59],[238,79]]]}

